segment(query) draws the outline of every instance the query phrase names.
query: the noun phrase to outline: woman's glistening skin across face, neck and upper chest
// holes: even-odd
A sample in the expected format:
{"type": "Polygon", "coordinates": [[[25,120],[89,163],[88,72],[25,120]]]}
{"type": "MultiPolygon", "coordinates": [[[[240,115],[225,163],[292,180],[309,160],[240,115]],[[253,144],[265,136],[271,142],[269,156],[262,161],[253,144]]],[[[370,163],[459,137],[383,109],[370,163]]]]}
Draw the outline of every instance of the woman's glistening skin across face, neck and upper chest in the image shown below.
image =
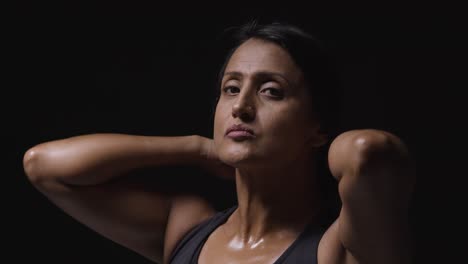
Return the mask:
{"type": "Polygon", "coordinates": [[[209,237],[200,263],[268,263],[316,217],[312,148],[325,137],[308,111],[301,71],[275,44],[252,39],[241,45],[220,89],[214,142],[220,160],[236,168],[239,206],[209,237]],[[255,137],[227,137],[234,124],[255,137]]]}

